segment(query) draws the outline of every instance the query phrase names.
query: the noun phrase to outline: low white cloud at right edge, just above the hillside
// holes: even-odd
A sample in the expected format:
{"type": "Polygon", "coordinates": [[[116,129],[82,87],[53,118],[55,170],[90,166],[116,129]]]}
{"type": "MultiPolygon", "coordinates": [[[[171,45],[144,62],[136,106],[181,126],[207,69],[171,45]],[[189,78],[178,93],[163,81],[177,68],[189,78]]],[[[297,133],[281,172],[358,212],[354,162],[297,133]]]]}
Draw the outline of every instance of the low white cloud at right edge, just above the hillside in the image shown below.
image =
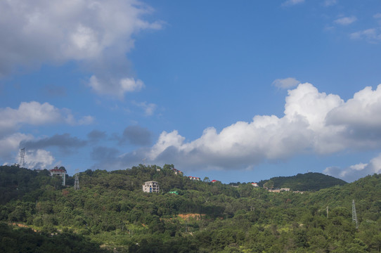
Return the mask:
{"type": "Polygon", "coordinates": [[[328,167],[324,170],[324,173],[348,182],[355,181],[364,176],[379,174],[381,173],[381,154],[368,163],[354,164],[344,169],[340,167],[328,167]]]}

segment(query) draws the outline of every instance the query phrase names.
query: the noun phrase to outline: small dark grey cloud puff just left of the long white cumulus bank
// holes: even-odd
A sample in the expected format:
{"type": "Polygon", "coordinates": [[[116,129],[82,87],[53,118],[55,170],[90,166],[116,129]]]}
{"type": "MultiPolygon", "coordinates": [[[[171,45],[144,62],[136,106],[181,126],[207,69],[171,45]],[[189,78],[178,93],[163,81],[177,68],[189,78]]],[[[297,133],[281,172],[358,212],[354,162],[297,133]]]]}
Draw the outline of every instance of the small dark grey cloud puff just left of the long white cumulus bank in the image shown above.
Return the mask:
{"type": "Polygon", "coordinates": [[[151,143],[151,133],[145,127],[138,125],[127,126],[123,131],[120,143],[125,141],[133,145],[149,145],[151,143]]]}

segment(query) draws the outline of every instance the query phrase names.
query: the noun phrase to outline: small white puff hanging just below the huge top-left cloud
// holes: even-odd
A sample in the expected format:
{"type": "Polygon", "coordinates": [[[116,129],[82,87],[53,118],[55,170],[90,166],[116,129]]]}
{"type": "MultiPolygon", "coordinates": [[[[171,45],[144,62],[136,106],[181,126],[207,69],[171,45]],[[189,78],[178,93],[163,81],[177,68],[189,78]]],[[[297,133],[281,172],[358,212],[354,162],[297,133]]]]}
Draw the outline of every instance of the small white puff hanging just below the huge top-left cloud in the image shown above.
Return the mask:
{"type": "Polygon", "coordinates": [[[91,76],[89,80],[89,86],[98,94],[108,94],[123,98],[124,93],[140,91],[144,84],[141,80],[135,80],[133,78],[123,78],[120,80],[98,80],[96,76],[91,76]]]}

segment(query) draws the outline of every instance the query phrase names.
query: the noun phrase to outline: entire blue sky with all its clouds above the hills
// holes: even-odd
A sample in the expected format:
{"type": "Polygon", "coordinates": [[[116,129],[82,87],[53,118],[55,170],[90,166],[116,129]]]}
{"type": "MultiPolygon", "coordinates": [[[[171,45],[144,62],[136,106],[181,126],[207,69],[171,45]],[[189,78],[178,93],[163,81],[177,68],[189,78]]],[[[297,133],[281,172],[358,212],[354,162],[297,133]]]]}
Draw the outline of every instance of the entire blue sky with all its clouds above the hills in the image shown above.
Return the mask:
{"type": "Polygon", "coordinates": [[[224,183],[381,171],[377,0],[2,1],[0,163],[224,183]]]}

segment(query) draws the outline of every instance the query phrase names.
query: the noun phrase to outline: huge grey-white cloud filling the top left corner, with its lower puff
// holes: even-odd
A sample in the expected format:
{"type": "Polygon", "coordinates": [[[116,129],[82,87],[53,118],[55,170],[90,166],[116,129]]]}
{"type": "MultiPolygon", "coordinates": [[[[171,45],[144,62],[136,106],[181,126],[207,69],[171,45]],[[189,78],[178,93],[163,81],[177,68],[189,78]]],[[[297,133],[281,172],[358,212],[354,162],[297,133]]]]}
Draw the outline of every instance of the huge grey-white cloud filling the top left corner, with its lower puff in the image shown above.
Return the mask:
{"type": "Polygon", "coordinates": [[[137,0],[15,0],[0,1],[0,9],[0,76],[75,60],[93,73],[94,91],[113,96],[141,88],[129,78],[126,53],[134,34],[163,24],[145,20],[153,8],[137,0]]]}

